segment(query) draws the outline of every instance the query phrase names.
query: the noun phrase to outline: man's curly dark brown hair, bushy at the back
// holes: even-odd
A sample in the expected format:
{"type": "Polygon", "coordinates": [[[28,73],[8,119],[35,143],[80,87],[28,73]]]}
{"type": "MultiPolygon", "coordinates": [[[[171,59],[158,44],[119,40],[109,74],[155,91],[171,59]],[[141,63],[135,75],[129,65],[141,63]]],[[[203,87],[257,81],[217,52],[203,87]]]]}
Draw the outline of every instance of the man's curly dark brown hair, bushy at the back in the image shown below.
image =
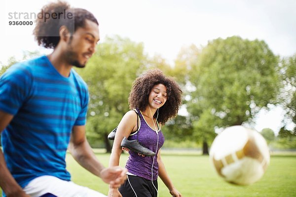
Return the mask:
{"type": "Polygon", "coordinates": [[[72,8],[69,3],[60,0],[44,5],[38,13],[38,16],[42,17],[36,18],[36,26],[33,34],[38,45],[45,48],[54,49],[58,45],[61,26],[66,26],[73,35],[77,28],[85,27],[86,19],[99,25],[97,19],[89,11],[82,8],[72,8]],[[58,15],[59,13],[63,13],[63,15],[60,17],[60,15],[58,15]],[[51,17],[44,21],[45,14],[51,17]],[[57,15],[59,17],[57,17],[57,15]],[[65,16],[71,16],[71,19],[74,17],[74,20],[69,20],[69,18],[65,16]]]}

